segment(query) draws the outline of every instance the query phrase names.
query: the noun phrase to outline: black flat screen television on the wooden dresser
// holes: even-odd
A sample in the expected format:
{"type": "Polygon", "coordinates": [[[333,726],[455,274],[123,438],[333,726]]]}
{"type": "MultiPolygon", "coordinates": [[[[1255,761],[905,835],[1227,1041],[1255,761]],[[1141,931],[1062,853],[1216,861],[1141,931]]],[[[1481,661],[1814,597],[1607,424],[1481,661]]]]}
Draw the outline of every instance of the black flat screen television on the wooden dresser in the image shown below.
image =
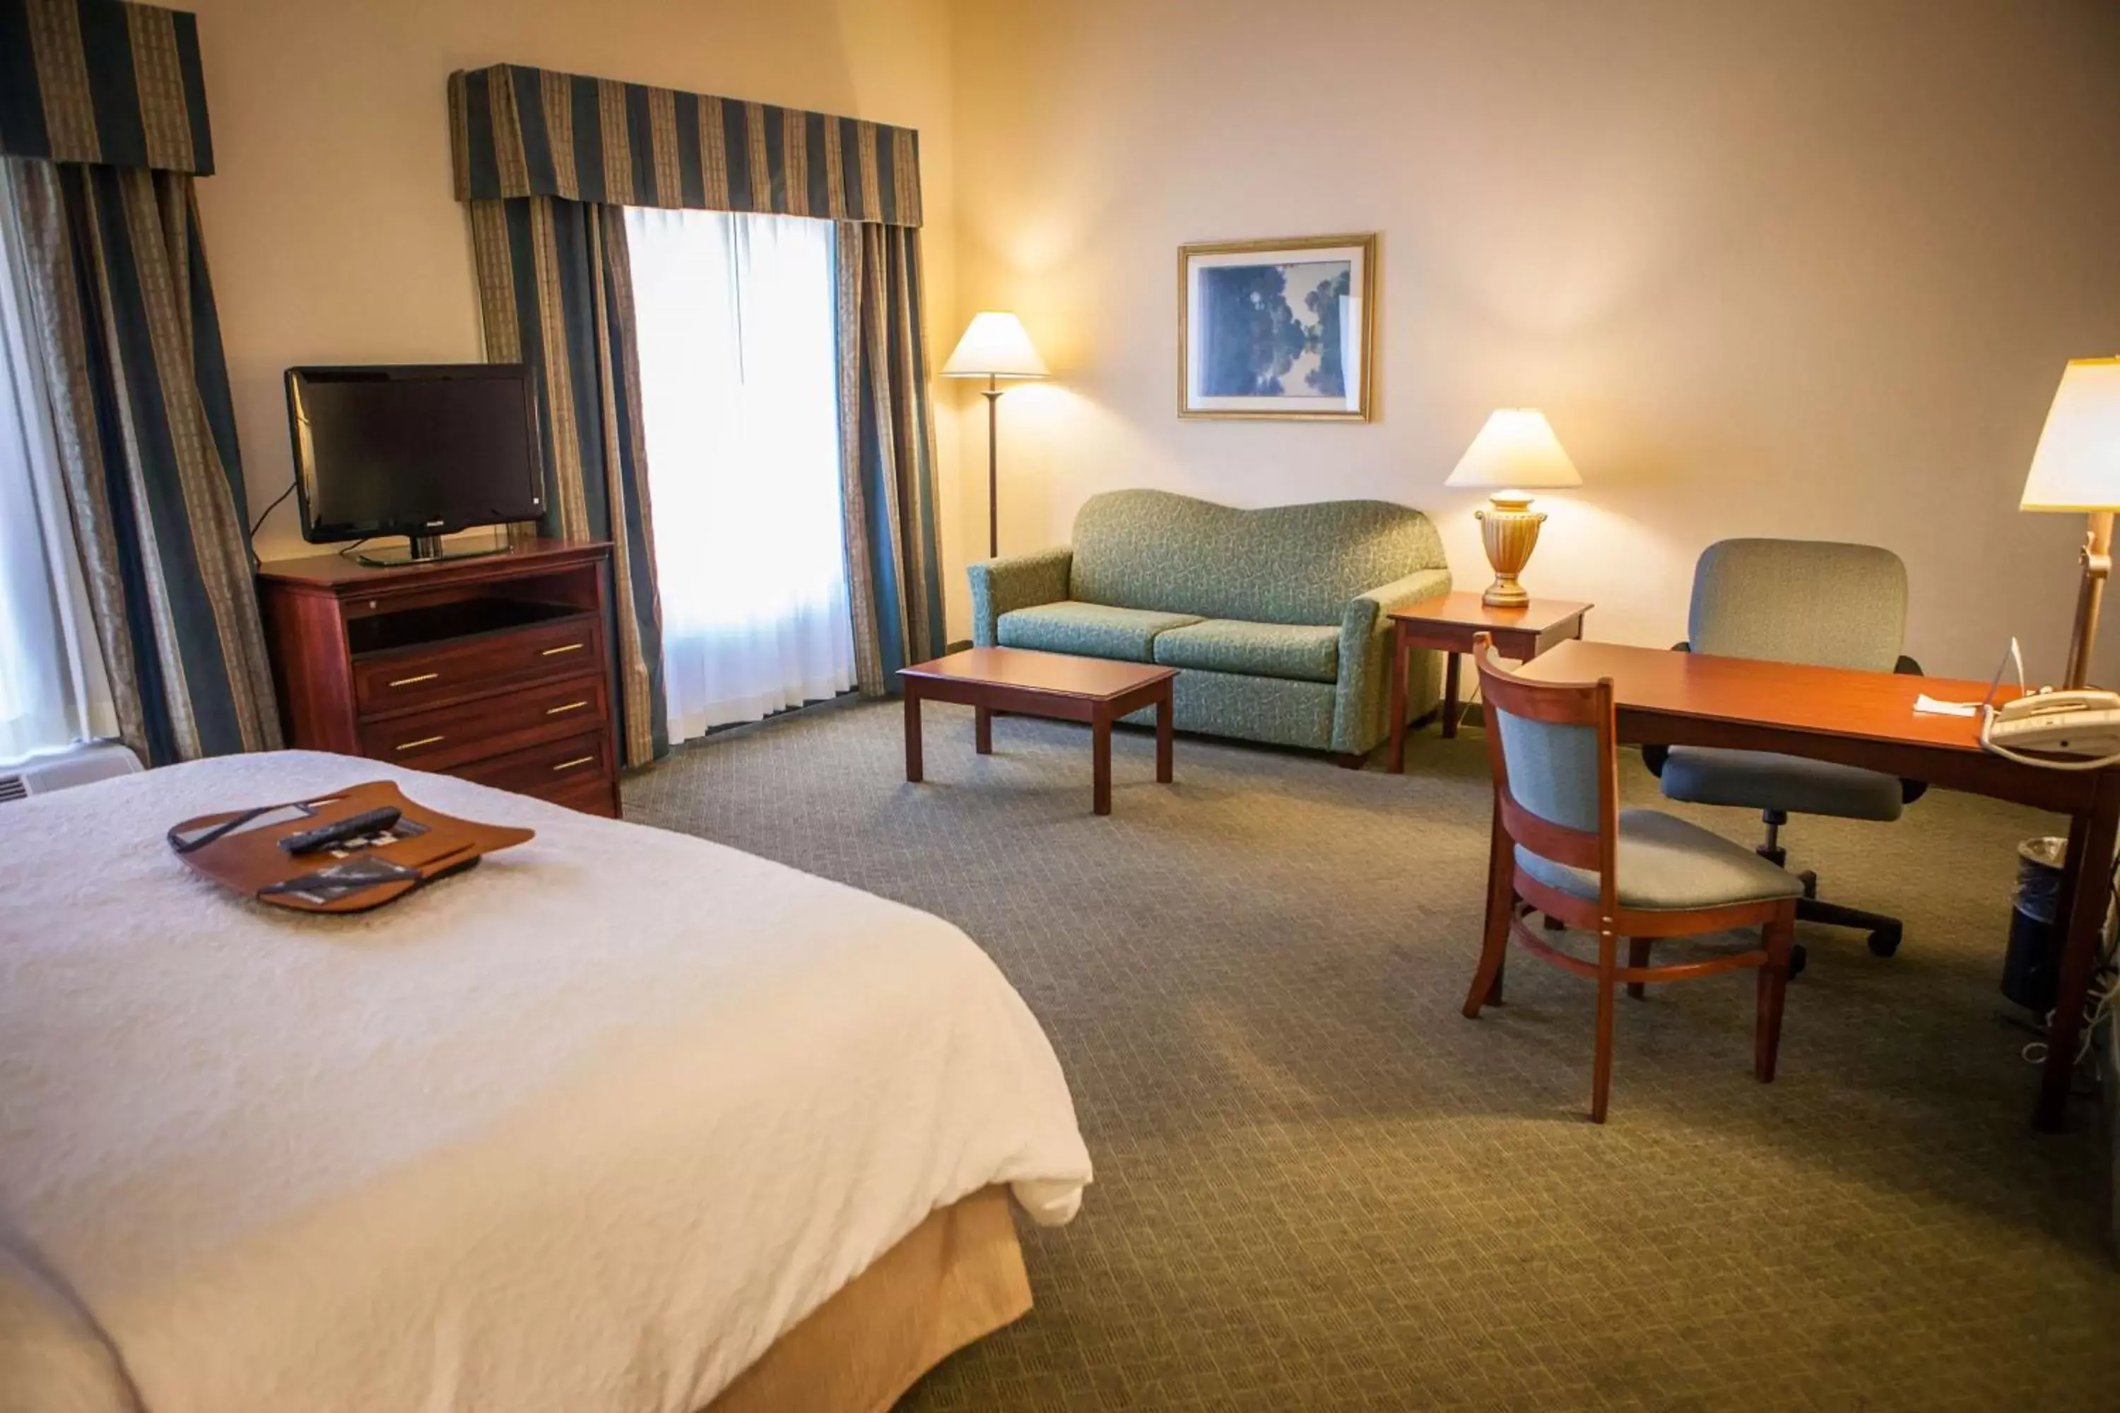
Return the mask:
{"type": "Polygon", "coordinates": [[[545,515],[519,362],[288,369],[286,419],[312,544],[403,534],[405,557],[437,559],[445,534],[545,515]]]}

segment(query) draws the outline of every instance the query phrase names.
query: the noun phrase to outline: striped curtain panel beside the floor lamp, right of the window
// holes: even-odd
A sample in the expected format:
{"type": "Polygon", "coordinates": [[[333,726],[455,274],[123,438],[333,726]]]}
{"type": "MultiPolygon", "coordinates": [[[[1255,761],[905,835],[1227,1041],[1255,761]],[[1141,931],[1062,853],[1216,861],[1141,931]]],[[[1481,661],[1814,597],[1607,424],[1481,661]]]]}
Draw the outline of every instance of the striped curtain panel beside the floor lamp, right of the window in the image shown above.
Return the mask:
{"type": "Polygon", "coordinates": [[[840,222],[840,439],[854,676],[880,697],[943,650],[920,231],[840,222]]]}

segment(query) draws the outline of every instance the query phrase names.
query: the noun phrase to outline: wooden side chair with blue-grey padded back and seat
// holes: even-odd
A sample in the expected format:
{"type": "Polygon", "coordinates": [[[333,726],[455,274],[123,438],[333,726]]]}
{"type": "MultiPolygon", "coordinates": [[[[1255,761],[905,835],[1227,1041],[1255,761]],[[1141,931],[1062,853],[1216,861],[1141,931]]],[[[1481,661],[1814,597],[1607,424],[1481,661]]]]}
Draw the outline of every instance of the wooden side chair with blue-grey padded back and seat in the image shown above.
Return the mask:
{"type": "Polygon", "coordinates": [[[1753,966],[1760,1013],[1753,1072],[1774,1078],[1781,1000],[1804,886],[1741,843],[1658,809],[1620,809],[1620,752],[1611,678],[1526,682],[1499,665],[1486,633],[1473,640],[1495,767],[1495,852],[1488,862],[1486,938],[1465,1015],[1501,1000],[1509,941],[1596,981],[1596,1061],[1590,1119],[1611,1095],[1613,991],[1641,996],[1651,981],[1685,981],[1753,966]],[[1596,932],[1596,962],[1554,949],[1522,924],[1522,905],[1569,928],[1596,932]],[[1762,928],[1762,945],[1702,962],[1651,966],[1660,938],[1762,928]],[[1620,938],[1628,938],[1620,966],[1620,938]]]}

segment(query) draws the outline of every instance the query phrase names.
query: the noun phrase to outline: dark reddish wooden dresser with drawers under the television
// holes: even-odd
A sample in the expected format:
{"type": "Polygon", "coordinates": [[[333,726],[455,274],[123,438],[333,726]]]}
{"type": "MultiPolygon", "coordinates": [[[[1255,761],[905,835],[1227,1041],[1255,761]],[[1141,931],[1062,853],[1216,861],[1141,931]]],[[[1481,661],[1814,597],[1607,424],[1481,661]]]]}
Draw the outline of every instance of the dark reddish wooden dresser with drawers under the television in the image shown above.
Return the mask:
{"type": "Polygon", "coordinates": [[[602,540],[369,568],[259,566],[288,746],[371,756],[617,818],[602,540]]]}

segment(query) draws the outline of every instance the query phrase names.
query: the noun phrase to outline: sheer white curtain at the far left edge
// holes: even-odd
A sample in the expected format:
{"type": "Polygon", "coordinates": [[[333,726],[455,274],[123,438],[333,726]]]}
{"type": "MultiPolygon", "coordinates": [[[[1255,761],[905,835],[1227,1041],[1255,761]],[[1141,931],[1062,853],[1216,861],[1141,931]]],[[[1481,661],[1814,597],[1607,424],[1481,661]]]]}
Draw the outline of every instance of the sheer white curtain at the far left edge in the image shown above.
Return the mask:
{"type": "Polygon", "coordinates": [[[0,193],[0,761],[119,733],[11,208],[0,193]]]}

